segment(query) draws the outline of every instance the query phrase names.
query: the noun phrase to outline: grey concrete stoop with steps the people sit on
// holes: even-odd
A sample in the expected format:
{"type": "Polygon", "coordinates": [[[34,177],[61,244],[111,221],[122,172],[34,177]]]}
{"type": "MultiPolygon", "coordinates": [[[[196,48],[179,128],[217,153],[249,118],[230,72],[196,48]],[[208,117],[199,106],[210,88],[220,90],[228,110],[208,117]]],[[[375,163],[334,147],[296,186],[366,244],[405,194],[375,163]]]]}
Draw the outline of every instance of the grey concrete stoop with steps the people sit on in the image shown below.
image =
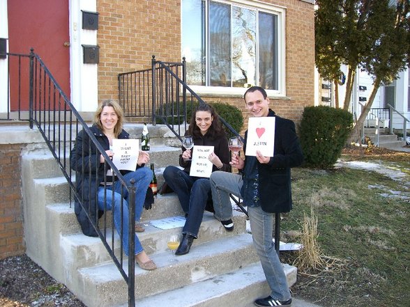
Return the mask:
{"type": "MultiPolygon", "coordinates": [[[[163,168],[170,161],[177,165],[179,152],[167,146],[150,152],[159,186],[163,168]]],[[[69,203],[68,183],[51,155],[29,152],[22,156],[22,189],[27,255],[86,306],[128,306],[123,277],[100,239],[81,233],[74,206],[69,203]]],[[[152,226],[151,221],[176,216],[183,216],[183,212],[173,193],[158,195],[152,209],[143,210],[146,230],[138,237],[158,269],[144,271],[135,265],[136,306],[241,307],[268,294],[252,236],[246,232],[245,214],[234,212],[235,230],[228,233],[213,214],[206,212],[190,253],[172,256],[167,237],[181,233],[181,227],[163,230],[152,226]]],[[[109,212],[100,219],[100,227],[102,223],[107,223],[107,243],[114,242],[114,253],[119,255],[119,236],[111,231],[109,212]]],[[[125,255],[123,259],[128,271],[128,259],[125,255]]],[[[296,268],[284,265],[284,271],[289,286],[293,285],[296,268]]]]}

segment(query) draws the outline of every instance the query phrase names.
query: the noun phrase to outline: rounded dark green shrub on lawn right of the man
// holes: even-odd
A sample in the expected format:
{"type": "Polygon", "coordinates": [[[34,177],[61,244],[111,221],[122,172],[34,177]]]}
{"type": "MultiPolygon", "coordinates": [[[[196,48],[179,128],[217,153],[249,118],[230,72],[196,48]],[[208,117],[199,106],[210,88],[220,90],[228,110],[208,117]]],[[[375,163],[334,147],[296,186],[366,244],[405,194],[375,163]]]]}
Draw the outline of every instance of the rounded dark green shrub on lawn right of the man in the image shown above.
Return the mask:
{"type": "Polygon", "coordinates": [[[332,168],[353,127],[349,111],[332,107],[305,107],[300,138],[305,166],[332,168]]]}

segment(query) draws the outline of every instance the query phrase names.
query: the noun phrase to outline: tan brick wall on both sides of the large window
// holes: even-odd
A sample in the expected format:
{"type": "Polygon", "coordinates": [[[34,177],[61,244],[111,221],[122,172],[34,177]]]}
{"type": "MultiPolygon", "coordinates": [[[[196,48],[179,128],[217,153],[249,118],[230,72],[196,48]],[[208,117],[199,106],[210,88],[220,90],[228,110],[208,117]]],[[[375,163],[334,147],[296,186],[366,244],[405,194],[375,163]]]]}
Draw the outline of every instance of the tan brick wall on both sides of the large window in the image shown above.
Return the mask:
{"type": "MultiPolygon", "coordinates": [[[[314,7],[300,0],[265,0],[286,8],[287,99],[271,97],[278,115],[299,123],[303,108],[314,104],[314,7]]],[[[180,0],[98,0],[98,99],[118,97],[117,74],[151,67],[160,61],[181,61],[180,0]]],[[[228,102],[248,112],[241,95],[201,95],[205,101],[228,102]]]]}

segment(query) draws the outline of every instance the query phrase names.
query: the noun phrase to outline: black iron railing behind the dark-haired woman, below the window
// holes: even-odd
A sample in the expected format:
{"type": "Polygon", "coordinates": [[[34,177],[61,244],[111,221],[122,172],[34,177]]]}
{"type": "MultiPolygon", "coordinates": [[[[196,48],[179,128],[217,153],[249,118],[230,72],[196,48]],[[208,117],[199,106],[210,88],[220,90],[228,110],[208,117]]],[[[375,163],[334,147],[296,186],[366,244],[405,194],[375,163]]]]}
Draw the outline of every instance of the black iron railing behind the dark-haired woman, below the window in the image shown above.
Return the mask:
{"type": "MultiPolygon", "coordinates": [[[[165,124],[180,140],[187,129],[187,110],[196,104],[206,104],[186,84],[185,58],[181,63],[156,61],[151,69],[119,74],[119,101],[128,118],[144,118],[153,125],[165,124]]],[[[220,117],[222,125],[236,136],[236,130],[220,117]]],[[[131,119],[132,121],[132,119],[131,119]]]]}

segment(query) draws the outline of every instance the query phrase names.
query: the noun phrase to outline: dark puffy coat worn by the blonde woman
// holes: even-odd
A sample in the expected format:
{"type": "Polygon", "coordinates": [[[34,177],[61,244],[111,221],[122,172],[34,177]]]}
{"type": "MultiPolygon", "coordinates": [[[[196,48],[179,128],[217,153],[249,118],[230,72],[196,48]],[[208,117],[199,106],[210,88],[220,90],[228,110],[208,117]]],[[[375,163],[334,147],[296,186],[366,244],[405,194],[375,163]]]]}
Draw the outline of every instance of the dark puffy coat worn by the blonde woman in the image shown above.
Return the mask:
{"type": "MultiPolygon", "coordinates": [[[[102,145],[102,148],[109,150],[107,136],[96,125],[93,125],[90,129],[96,136],[98,143],[102,145]]],[[[123,130],[119,134],[119,139],[129,139],[129,134],[123,130]]],[[[89,135],[84,130],[80,131],[75,139],[75,145],[70,152],[70,166],[76,172],[76,191],[84,206],[82,207],[79,201],[75,200],[74,210],[77,220],[84,235],[98,237],[98,233],[90,223],[87,214],[91,221],[98,223],[98,218],[102,212],[98,211],[97,191],[109,166],[100,163],[100,152],[98,152],[96,145],[90,142],[89,135]]]]}

